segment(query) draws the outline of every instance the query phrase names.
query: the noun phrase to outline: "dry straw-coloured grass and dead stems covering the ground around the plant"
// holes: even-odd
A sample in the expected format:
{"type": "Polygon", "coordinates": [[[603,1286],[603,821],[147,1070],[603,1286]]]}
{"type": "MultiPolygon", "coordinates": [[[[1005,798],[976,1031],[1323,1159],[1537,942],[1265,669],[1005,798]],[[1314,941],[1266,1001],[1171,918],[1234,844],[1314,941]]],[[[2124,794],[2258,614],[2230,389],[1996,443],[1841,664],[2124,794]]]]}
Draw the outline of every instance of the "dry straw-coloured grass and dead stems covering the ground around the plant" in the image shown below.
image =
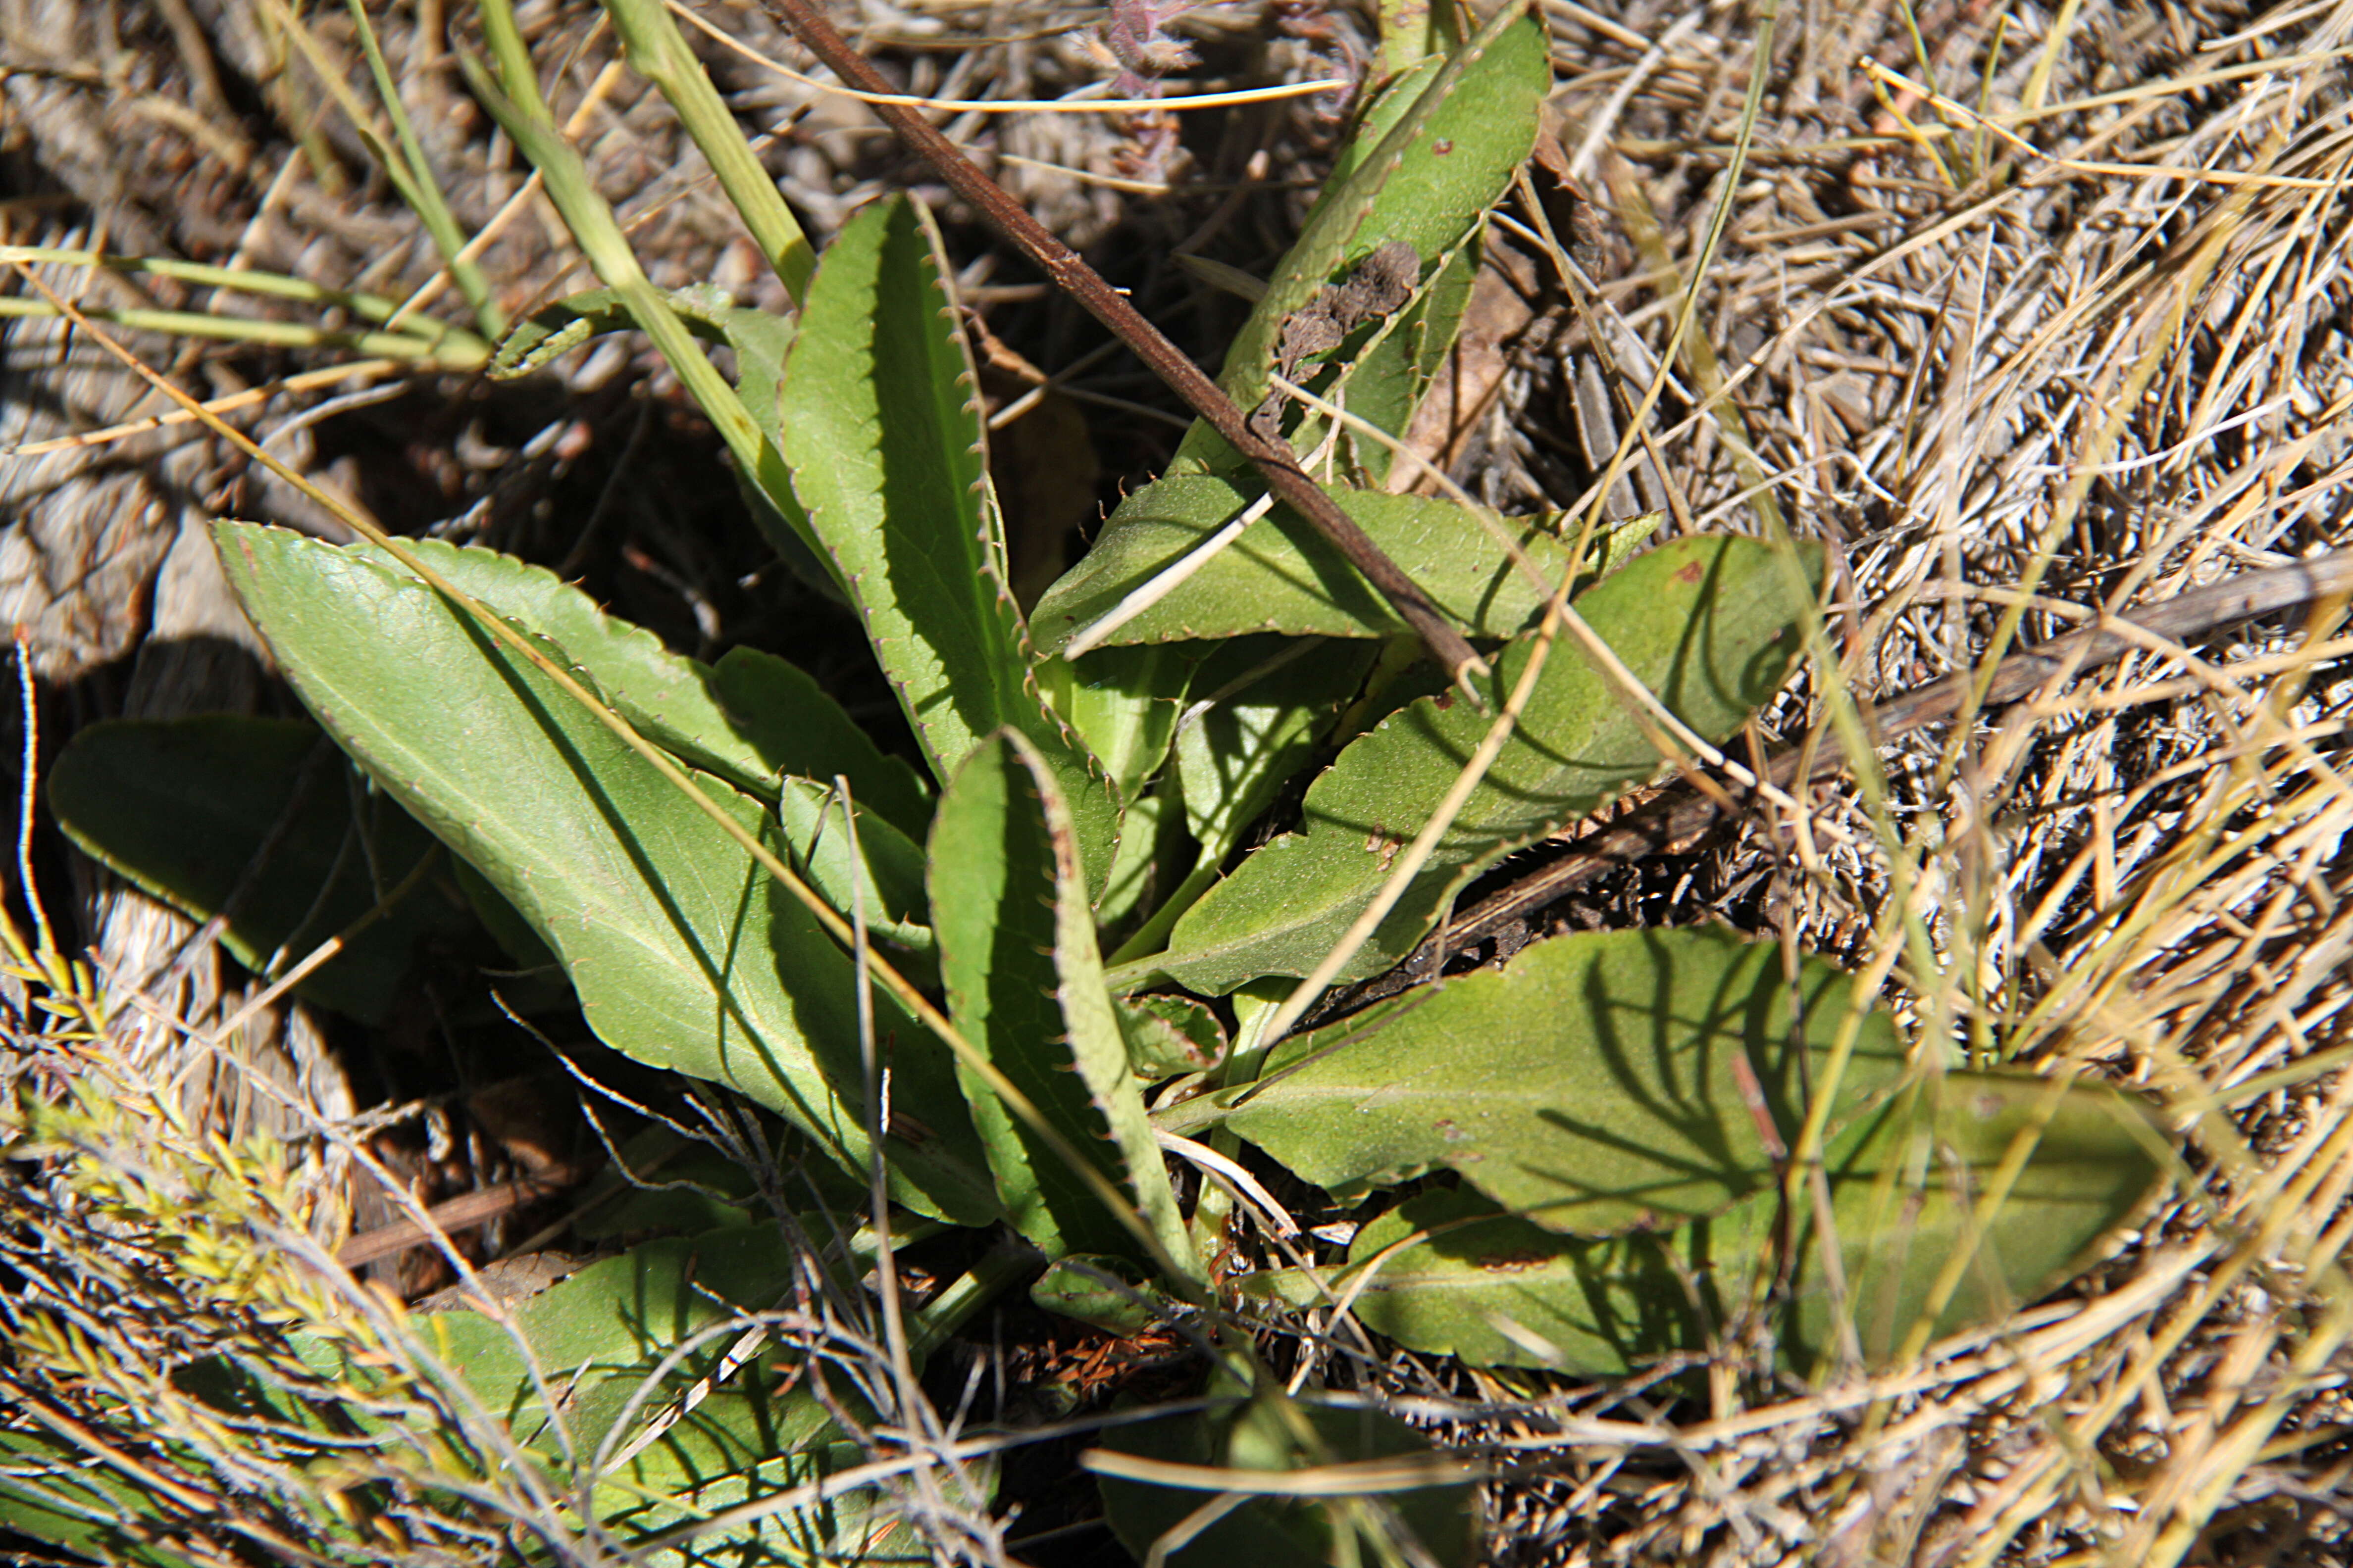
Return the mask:
{"type": "MultiPolygon", "coordinates": [[[[1348,75],[1372,56],[1362,16],[1313,7],[1202,7],[1162,24],[1181,47],[1139,40],[1139,7],[1120,7],[1104,33],[1094,12],[1028,0],[833,9],[911,94],[962,103],[1049,99],[1115,73],[1120,92],[1186,96],[1348,75]]],[[[1864,701],[2061,635],[2082,611],[2346,545],[2353,82],[2341,54],[2353,7],[1781,7],[1748,165],[1727,188],[1765,12],[1546,5],[1558,162],[1607,214],[1602,256],[1584,275],[1562,268],[1548,205],[1511,209],[1489,275],[1522,308],[1487,284],[1492,360],[1424,451],[1497,505],[1539,510],[1574,503],[1633,435],[1628,484],[1668,505],[1678,529],[1833,541],[1831,679],[1864,701]],[[1692,336],[1661,364],[1720,202],[1722,256],[1692,336]],[[1666,393],[1635,428],[1628,414],[1654,376],[1666,393]]],[[[772,167],[814,233],[887,188],[925,188],[758,7],[696,14],[711,24],[713,71],[739,115],[772,134],[772,167]]],[[[24,193],[0,205],[5,240],[242,259],[395,299],[424,287],[431,249],[367,179],[365,148],[289,49],[282,16],[235,2],[0,5],[0,148],[24,193]]],[[[614,63],[593,9],[536,5],[525,19],[562,85],[558,113],[574,115],[656,280],[715,280],[776,303],[708,172],[614,63]]],[[[454,174],[459,219],[478,230],[525,176],[456,87],[452,21],[421,5],[379,26],[454,174]]],[[[306,24],[360,82],[341,14],[306,24]]],[[[1320,99],[1186,115],[1179,129],[1169,110],[932,113],[1200,353],[1235,313],[1167,256],[1247,273],[1280,254],[1332,136],[1320,99]]],[[[958,240],[974,315],[1099,421],[1113,480],[1144,477],[1165,451],[1155,418],[1167,407],[1151,383],[1089,364],[1092,339],[1068,313],[1028,280],[1007,282],[976,230],[960,226],[958,240]]],[[[513,313],[579,284],[529,197],[480,261],[513,313]]],[[[202,289],[169,280],[80,277],[89,299],[125,308],[207,308],[202,289]]],[[[5,343],[9,442],[151,411],[49,324],[12,320],[5,343]]],[[[224,397],[320,367],[301,350],[141,343],[158,364],[184,355],[179,369],[224,397]]],[[[682,473],[692,463],[664,449],[696,440],[645,371],[600,350],[560,400],[529,404],[464,376],[412,386],[379,369],[376,386],[402,400],[388,409],[459,409],[424,421],[416,442],[386,435],[384,407],[341,402],[358,388],[282,388],[240,418],[388,522],[605,574],[600,592],[659,604],[645,618],[689,646],[755,639],[784,616],[739,588],[762,569],[744,559],[748,531],[696,531],[638,473],[682,473]],[[576,501],[567,515],[602,543],[539,510],[548,494],[576,501]]],[[[264,703],[228,649],[198,646],[238,632],[216,592],[207,599],[205,562],[176,545],[188,520],[228,510],[322,527],[184,428],[139,440],[7,458],[0,477],[0,592],[9,618],[35,628],[52,741],[151,703],[264,703]]],[[[708,440],[699,451],[708,468],[708,440]]],[[[694,515],[725,503],[708,480],[671,489],[699,496],[694,515]]],[[[1722,917],[1845,954],[1920,1030],[2155,1093],[2184,1143],[2177,1197],[2064,1300],[1939,1345],[1918,1368],[1826,1387],[1791,1387],[1769,1347],[1727,1326],[1722,1354],[1697,1368],[1706,1401],[1673,1401],[1659,1382],[1466,1373],[1381,1352],[1341,1324],[1299,1354],[1499,1465],[1492,1561],[2346,1561],[2353,795],[2341,757],[2353,682],[2341,609],[2320,602],[2195,646],[2151,639],[2064,691],[1908,741],[1861,778],[1812,790],[1802,811],[1762,809],[1734,842],[1635,865],[1544,917],[1722,917]]],[[[1779,738],[1800,738],[1821,696],[1819,684],[1791,693],[1779,738]]],[[[179,1105],[195,1126],[299,1140],[308,1154],[294,1166],[254,1171],[184,1128],[113,1128],[125,1161],[209,1159],[245,1180],[240,1234],[278,1251],[313,1229],[341,1241],[346,1206],[374,1208],[365,1227],[440,1197],[381,1161],[365,1175],[384,1119],[327,1081],[299,1009],[275,1034],[240,1025],[252,1053],[219,1067],[212,1053],[228,1041],[209,1025],[249,992],[202,943],[176,964],[200,933],[78,877],[78,940],[106,957],[120,1023],[99,1041],[42,1039],[19,990],[14,1091],[54,1095],[64,1077],[113,1074],[125,1095],[179,1105]],[[191,983],[195,971],[205,978],[191,983]],[[256,1081],[278,1088],[240,1088],[256,1081]]],[[[506,1180],[489,1140],[449,1124],[447,1105],[433,1159],[461,1185],[506,1180]],[[471,1161],[445,1159],[468,1138],[471,1161]]],[[[169,1361],[209,1333],[266,1338],[285,1307],[292,1274],[240,1276],[235,1309],[235,1291],[184,1295],[165,1267],[186,1258],[169,1204],[101,1222],[56,1171],[16,1166],[7,1182],[16,1349],[5,1375],[24,1410],[132,1441],[125,1458],[139,1434],[104,1439],[104,1422],[169,1406],[169,1361]],[[35,1312],[87,1340],[24,1338],[35,1312]]],[[[369,1300],[339,1309],[365,1319],[369,1300]]],[[[906,1420],[920,1425],[913,1410],[906,1420]]],[[[266,1469],[266,1455],[254,1465],[266,1469]]],[[[259,1469],[247,1479],[268,1495],[259,1469]]],[[[193,1476],[158,1486],[191,1488],[191,1519],[245,1507],[193,1476]]],[[[972,1512],[969,1493],[901,1502],[929,1509],[927,1549],[976,1561],[1007,1549],[986,1521],[941,1523],[972,1512]]],[[[386,1535],[388,1556],[487,1544],[433,1540],[421,1519],[386,1535]]],[[[242,1526],[191,1526],[188,1549],[226,1554],[240,1535],[240,1549],[271,1549],[294,1521],[254,1505],[242,1526]]]]}

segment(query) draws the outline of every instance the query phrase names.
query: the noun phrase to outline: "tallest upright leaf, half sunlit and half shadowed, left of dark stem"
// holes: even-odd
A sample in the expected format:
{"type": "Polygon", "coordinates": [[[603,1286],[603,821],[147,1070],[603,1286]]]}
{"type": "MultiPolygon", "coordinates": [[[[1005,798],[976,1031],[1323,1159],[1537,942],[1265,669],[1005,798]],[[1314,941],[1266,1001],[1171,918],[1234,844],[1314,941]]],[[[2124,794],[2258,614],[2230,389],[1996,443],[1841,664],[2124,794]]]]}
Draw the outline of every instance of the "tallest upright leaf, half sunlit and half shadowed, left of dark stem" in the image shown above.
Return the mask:
{"type": "Polygon", "coordinates": [[[875,202],[826,247],[786,360],[779,442],[932,773],[951,778],[981,736],[1021,731],[1104,877],[1118,802],[1031,682],[1005,541],[981,503],[972,364],[939,235],[913,202],[875,202]]]}

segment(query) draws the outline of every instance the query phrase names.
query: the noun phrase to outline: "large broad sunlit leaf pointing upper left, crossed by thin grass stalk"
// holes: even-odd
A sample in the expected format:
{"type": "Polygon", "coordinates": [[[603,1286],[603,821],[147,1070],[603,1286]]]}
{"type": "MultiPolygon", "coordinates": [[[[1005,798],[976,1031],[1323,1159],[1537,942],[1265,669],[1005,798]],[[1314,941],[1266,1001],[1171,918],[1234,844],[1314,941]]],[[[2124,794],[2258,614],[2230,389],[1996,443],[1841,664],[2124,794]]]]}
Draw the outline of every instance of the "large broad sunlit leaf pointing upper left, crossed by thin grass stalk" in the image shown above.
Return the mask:
{"type": "MultiPolygon", "coordinates": [[[[800,900],[435,590],[280,529],[221,524],[219,543],[304,705],[532,922],[605,1044],[732,1084],[866,1171],[852,964],[800,900]]],[[[767,820],[720,778],[699,788],[753,832],[767,820]]],[[[984,1166],[946,1048],[887,992],[875,1009],[896,1041],[894,1112],[911,1135],[915,1124],[927,1133],[889,1143],[894,1192],[984,1220],[984,1166]]]]}

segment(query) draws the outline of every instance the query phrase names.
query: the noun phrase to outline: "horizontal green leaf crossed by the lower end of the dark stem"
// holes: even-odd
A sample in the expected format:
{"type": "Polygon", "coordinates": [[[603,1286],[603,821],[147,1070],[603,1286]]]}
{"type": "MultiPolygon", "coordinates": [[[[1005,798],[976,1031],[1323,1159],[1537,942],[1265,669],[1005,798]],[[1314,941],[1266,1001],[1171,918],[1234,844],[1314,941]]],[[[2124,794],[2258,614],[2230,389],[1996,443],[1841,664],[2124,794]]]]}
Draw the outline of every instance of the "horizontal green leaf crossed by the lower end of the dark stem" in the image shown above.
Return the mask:
{"type": "MultiPolygon", "coordinates": [[[[1031,625],[1040,642],[1061,649],[1132,590],[1191,555],[1254,494],[1217,475],[1174,475],[1139,489],[1104,524],[1087,559],[1038,602],[1031,625]]],[[[1367,489],[1327,487],[1327,494],[1466,635],[1513,637],[1544,609],[1551,588],[1539,588],[1518,569],[1487,524],[1461,505],[1367,489]]],[[[1525,517],[1492,522],[1544,583],[1560,581],[1569,552],[1558,538],[1525,517]]],[[[1115,630],[1111,644],[1249,632],[1391,637],[1409,630],[1339,550],[1278,505],[1174,592],[1115,630]]]]}

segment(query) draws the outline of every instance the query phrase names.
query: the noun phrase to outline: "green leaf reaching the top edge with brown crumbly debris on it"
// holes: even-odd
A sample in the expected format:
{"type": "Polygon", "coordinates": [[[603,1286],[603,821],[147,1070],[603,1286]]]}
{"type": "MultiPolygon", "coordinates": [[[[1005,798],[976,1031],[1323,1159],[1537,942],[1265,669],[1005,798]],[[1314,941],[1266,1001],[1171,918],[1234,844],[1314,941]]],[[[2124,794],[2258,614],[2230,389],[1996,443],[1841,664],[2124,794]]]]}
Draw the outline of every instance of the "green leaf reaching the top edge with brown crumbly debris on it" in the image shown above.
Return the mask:
{"type": "MultiPolygon", "coordinates": [[[[1299,242],[1226,350],[1226,395],[1259,407],[1282,322],[1381,244],[1412,244],[1424,268],[1457,249],[1534,146],[1548,85],[1544,28],[1511,7],[1449,59],[1400,78],[1341,153],[1299,242]]],[[[1169,470],[1231,470],[1238,461],[1224,437],[1195,423],[1169,470]]]]}

